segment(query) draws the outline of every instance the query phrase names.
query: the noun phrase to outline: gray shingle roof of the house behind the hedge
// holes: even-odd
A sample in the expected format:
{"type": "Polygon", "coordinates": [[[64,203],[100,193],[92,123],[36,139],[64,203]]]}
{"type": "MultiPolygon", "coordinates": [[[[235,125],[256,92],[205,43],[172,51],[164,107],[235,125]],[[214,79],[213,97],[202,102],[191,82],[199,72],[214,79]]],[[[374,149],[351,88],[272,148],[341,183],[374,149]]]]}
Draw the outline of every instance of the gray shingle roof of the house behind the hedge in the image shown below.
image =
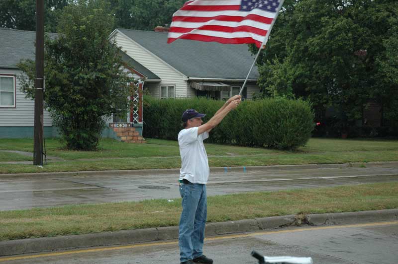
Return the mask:
{"type": "MultiPolygon", "coordinates": [[[[167,44],[166,32],[117,30],[188,77],[245,79],[254,60],[247,45],[183,39],[167,44]]],[[[249,79],[258,75],[255,66],[249,79]]]]}

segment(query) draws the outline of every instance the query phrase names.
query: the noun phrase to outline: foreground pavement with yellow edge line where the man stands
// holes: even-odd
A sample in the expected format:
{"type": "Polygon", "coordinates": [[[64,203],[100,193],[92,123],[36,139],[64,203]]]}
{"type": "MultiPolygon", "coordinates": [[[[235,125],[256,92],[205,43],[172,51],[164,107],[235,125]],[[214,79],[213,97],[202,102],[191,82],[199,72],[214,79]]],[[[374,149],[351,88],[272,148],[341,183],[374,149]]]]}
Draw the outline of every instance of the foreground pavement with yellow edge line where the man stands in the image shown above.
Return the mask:
{"type": "MultiPolygon", "coordinates": [[[[256,264],[250,252],[311,257],[314,264],[397,264],[398,221],[299,227],[206,238],[214,264],[256,264]]],[[[172,264],[177,241],[0,258],[4,264],[172,264]]]]}

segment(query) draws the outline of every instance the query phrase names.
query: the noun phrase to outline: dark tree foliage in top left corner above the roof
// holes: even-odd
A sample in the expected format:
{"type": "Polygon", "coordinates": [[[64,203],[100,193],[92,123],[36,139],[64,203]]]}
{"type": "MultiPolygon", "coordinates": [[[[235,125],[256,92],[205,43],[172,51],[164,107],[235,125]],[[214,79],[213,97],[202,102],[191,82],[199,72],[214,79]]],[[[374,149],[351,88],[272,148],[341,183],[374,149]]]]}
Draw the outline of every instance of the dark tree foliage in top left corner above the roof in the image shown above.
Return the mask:
{"type": "MultiPolygon", "coordinates": [[[[57,18],[70,0],[44,0],[44,27],[55,32],[57,18]]],[[[1,0],[0,27],[35,31],[36,0],[1,0]]]]}

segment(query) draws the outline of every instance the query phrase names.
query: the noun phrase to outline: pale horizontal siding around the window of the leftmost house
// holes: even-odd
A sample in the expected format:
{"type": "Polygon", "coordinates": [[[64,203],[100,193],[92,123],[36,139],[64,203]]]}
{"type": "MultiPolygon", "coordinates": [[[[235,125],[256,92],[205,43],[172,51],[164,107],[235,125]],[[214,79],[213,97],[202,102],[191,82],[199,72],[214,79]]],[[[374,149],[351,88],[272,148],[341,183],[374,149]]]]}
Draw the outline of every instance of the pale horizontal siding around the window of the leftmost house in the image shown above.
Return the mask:
{"type": "MultiPolygon", "coordinates": [[[[16,82],[15,108],[0,108],[0,127],[33,127],[34,101],[25,99],[25,94],[19,91],[17,69],[0,69],[0,74],[13,74],[16,82]]],[[[44,126],[51,126],[50,114],[44,110],[44,126]]]]}

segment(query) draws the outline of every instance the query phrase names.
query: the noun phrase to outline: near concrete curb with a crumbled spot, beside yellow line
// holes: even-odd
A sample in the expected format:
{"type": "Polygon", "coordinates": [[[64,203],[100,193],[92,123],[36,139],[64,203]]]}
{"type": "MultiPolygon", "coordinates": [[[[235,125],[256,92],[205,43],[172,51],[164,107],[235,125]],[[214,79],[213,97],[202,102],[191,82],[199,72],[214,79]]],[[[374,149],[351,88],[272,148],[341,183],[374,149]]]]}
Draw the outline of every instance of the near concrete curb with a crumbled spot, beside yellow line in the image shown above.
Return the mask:
{"type": "MultiPolygon", "coordinates": [[[[229,222],[207,223],[205,236],[211,237],[225,234],[254,232],[288,226],[322,226],[389,220],[398,220],[398,209],[346,213],[285,215],[229,222]]],[[[178,226],[49,238],[9,240],[0,242],[0,256],[144,243],[170,239],[178,239],[178,226]]]]}

